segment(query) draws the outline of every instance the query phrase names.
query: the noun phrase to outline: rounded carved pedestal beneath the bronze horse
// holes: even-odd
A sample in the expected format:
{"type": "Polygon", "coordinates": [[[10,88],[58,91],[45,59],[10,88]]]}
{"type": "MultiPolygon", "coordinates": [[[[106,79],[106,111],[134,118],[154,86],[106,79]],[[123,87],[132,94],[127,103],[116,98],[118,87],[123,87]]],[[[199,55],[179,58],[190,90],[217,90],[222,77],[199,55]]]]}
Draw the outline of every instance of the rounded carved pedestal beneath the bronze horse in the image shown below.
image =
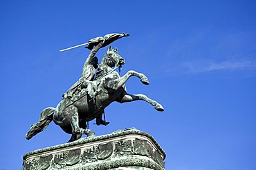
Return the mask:
{"type": "Polygon", "coordinates": [[[165,152],[137,129],[81,138],[24,155],[23,169],[164,170],[165,152]]]}

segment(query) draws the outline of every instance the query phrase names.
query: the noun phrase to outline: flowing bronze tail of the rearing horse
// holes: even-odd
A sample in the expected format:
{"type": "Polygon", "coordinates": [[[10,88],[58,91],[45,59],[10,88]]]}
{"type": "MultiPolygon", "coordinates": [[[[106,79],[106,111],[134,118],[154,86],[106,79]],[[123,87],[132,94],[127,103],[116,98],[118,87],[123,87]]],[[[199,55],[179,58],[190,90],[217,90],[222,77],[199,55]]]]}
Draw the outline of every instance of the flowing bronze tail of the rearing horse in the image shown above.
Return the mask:
{"type": "Polygon", "coordinates": [[[43,131],[48,127],[48,125],[53,120],[53,114],[55,112],[55,108],[47,107],[44,109],[40,115],[40,118],[37,123],[31,125],[28,133],[26,134],[26,139],[29,140],[39,132],[43,131]]]}

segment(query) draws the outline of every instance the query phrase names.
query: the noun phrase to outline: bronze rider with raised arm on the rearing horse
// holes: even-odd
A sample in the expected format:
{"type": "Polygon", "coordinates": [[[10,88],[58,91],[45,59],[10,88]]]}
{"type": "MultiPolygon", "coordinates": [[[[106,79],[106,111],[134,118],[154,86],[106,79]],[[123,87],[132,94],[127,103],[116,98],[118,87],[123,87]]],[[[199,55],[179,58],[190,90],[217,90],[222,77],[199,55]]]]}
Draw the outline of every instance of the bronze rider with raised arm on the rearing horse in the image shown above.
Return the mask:
{"type": "MultiPolygon", "coordinates": [[[[104,43],[104,39],[102,38],[100,39],[100,43],[98,43],[98,45],[95,45],[93,50],[91,50],[88,58],[84,63],[81,78],[79,78],[79,80],[74,85],[72,85],[72,87],[70,87],[66,93],[62,94],[63,98],[72,99],[75,92],[81,91],[82,88],[86,88],[85,86],[87,84],[86,82],[94,80],[95,70],[98,68],[98,58],[97,56],[95,56],[95,54],[96,52],[98,52],[100,47],[102,47],[103,43],[104,43]]],[[[100,114],[100,116],[96,118],[96,124],[108,125],[109,122],[102,120],[102,114],[100,114]]]]}

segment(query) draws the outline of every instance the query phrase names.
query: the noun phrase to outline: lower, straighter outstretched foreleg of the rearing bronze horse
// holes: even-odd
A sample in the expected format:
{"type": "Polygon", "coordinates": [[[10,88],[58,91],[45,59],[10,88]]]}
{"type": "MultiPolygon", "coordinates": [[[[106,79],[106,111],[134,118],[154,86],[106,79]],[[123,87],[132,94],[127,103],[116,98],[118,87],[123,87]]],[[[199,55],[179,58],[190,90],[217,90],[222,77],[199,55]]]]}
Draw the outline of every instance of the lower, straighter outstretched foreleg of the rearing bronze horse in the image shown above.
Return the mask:
{"type": "Polygon", "coordinates": [[[125,94],[120,100],[120,103],[131,102],[135,100],[144,100],[155,107],[157,111],[164,111],[163,106],[157,103],[155,100],[148,98],[145,94],[125,94]]]}

